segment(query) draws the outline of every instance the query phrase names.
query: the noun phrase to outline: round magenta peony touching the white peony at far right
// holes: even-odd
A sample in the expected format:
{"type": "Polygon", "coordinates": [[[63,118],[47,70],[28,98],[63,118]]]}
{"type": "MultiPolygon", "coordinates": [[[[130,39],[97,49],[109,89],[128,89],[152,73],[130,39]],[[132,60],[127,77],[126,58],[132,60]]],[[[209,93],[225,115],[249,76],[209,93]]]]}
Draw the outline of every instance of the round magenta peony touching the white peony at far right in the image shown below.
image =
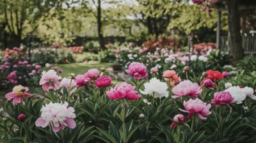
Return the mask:
{"type": "Polygon", "coordinates": [[[212,99],[212,104],[214,105],[227,105],[228,103],[233,103],[234,97],[228,91],[221,91],[214,93],[214,98],[212,99]]]}

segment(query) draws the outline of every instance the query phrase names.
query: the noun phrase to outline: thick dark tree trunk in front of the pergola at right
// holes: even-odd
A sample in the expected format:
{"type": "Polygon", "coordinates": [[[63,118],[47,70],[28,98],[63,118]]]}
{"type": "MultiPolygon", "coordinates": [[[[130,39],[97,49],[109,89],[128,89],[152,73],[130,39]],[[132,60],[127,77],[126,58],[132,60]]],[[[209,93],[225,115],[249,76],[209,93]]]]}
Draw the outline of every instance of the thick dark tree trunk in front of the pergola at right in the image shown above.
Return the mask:
{"type": "Polygon", "coordinates": [[[232,61],[236,62],[244,57],[242,37],[240,34],[240,17],[239,17],[239,0],[227,0],[226,6],[228,10],[228,32],[229,46],[232,49],[230,53],[232,61]]]}

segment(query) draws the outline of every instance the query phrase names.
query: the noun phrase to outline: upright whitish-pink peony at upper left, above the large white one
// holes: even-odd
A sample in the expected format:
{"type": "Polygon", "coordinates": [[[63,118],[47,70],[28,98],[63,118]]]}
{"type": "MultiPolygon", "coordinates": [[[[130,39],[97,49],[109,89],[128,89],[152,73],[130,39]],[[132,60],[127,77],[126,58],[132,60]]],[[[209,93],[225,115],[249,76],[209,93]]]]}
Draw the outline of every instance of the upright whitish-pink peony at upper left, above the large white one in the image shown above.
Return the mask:
{"type": "Polygon", "coordinates": [[[45,91],[49,90],[49,87],[54,87],[54,89],[58,88],[58,75],[54,70],[49,70],[48,72],[42,72],[42,78],[39,82],[40,86],[42,85],[45,91]]]}

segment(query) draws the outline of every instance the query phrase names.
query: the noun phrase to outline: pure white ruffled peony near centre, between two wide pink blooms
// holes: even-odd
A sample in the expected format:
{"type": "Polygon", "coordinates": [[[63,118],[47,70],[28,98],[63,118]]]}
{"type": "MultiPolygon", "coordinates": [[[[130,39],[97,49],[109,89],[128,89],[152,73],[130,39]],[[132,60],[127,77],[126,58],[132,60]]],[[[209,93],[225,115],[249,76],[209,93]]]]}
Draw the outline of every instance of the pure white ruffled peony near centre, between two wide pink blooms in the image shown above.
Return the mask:
{"type": "Polygon", "coordinates": [[[154,94],[154,98],[162,98],[163,96],[169,96],[168,86],[166,82],[161,82],[159,79],[150,79],[149,82],[144,84],[144,87],[144,91],[140,90],[142,94],[150,94],[152,96],[154,94]]]}

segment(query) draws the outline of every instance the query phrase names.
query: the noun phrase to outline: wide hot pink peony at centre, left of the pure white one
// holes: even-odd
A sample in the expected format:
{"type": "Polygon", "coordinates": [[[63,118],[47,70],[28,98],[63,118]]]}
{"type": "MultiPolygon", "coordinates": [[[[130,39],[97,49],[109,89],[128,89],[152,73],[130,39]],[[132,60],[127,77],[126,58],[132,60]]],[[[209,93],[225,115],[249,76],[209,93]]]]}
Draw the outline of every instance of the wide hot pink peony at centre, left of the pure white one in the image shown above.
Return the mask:
{"type": "Polygon", "coordinates": [[[137,91],[135,91],[135,87],[126,82],[116,84],[114,88],[107,91],[107,95],[111,100],[119,100],[123,98],[126,98],[127,100],[136,100],[141,98],[141,95],[137,94],[137,91]]]}

